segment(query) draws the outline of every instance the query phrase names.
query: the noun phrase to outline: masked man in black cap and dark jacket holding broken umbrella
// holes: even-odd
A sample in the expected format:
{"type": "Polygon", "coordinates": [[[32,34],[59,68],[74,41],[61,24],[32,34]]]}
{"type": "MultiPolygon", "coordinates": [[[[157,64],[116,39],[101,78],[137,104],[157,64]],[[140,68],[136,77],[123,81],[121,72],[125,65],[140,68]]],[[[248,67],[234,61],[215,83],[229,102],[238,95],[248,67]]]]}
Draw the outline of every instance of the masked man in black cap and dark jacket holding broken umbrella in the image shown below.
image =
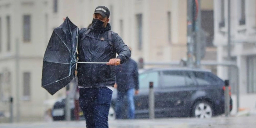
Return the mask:
{"type": "Polygon", "coordinates": [[[115,84],[115,66],[131,56],[131,51],[117,33],[111,32],[110,11],[98,6],[92,26],[79,30],[79,62],[108,62],[108,64],[78,64],[79,104],[87,128],[108,128],[108,112],[115,84]],[[89,30],[89,32],[88,32],[89,30]],[[118,56],[116,57],[116,53],[118,56]]]}

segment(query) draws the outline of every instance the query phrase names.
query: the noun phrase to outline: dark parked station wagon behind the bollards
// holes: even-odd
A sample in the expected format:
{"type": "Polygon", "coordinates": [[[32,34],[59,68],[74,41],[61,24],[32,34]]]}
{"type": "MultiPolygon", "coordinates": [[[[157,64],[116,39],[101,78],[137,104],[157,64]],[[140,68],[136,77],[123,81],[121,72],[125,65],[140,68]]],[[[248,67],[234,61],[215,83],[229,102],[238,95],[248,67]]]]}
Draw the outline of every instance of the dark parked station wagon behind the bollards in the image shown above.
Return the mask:
{"type": "MultiPolygon", "coordinates": [[[[135,118],[149,118],[149,82],[153,82],[154,85],[156,118],[210,118],[224,113],[223,80],[206,70],[164,68],[139,73],[140,91],[134,97],[135,118]]],[[[113,94],[113,108],[115,102],[116,94],[113,94]]]]}

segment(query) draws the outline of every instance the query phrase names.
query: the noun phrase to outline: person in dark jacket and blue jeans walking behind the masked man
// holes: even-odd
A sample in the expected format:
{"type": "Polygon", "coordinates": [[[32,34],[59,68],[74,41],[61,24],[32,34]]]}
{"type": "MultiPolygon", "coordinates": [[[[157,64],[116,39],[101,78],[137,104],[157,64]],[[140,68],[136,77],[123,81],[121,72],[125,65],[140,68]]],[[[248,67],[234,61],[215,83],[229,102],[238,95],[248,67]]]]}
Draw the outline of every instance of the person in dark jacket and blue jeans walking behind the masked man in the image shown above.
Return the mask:
{"type": "Polygon", "coordinates": [[[124,64],[116,68],[116,84],[117,86],[117,102],[116,102],[116,118],[123,119],[122,106],[124,106],[124,97],[128,101],[128,119],[134,119],[135,105],[134,94],[139,93],[138,67],[133,59],[129,59],[124,64]]]}

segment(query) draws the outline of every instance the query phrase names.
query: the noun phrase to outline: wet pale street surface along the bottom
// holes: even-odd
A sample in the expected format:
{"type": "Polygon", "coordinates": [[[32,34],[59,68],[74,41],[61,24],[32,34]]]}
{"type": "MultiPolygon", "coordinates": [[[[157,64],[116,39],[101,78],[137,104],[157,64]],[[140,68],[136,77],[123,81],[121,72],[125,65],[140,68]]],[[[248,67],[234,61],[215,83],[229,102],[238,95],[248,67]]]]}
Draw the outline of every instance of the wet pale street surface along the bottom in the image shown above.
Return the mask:
{"type": "MultiPolygon", "coordinates": [[[[0,128],[85,128],[84,121],[0,124],[0,128]]],[[[112,120],[109,128],[256,128],[256,116],[112,120]]]]}

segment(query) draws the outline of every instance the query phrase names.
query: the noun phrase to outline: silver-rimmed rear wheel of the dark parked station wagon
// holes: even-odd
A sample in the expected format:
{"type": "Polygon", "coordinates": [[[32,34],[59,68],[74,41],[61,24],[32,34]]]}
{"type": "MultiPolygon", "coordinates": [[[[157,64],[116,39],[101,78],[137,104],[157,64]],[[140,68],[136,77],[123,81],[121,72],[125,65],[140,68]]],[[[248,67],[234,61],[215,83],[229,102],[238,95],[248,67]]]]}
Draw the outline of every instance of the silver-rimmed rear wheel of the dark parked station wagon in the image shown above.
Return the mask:
{"type": "Polygon", "coordinates": [[[209,102],[198,101],[193,106],[192,116],[196,118],[211,118],[213,116],[213,107],[209,102]]]}

